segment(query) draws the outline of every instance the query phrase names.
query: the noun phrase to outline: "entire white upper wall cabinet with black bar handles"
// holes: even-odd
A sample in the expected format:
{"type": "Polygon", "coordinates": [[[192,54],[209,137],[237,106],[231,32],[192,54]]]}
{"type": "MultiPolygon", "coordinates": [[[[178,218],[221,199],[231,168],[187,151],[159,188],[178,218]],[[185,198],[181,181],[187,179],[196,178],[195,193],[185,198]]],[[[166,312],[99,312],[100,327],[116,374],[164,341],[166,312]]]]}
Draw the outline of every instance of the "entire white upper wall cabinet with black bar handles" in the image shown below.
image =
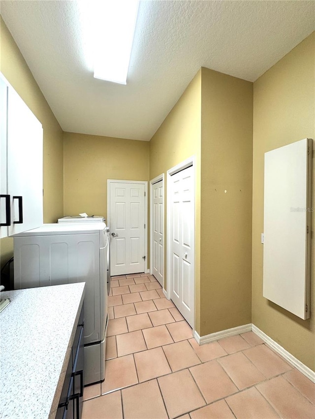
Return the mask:
{"type": "Polygon", "coordinates": [[[0,237],[43,223],[43,128],[5,79],[0,79],[0,237]]]}

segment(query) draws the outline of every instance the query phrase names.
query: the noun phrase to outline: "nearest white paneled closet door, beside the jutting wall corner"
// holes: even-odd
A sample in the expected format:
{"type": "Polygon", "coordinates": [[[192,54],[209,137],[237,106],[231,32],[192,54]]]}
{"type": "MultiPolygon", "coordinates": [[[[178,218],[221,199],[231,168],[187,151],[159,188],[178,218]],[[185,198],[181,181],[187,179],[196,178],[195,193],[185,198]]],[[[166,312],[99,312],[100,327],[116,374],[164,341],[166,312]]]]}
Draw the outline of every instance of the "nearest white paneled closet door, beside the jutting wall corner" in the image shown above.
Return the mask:
{"type": "Polygon", "coordinates": [[[171,299],[191,327],[194,318],[194,182],[193,168],[170,176],[171,299]]]}

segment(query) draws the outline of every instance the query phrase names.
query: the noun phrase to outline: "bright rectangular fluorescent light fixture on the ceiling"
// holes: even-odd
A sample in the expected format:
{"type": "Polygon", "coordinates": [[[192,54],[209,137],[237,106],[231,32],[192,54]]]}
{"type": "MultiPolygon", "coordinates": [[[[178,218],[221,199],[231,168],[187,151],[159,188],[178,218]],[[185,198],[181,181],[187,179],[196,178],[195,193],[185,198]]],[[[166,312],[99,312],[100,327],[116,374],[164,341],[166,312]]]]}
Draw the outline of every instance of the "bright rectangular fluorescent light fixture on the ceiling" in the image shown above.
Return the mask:
{"type": "Polygon", "coordinates": [[[139,1],[94,0],[79,5],[85,44],[93,51],[89,56],[94,77],[126,84],[139,1]]]}

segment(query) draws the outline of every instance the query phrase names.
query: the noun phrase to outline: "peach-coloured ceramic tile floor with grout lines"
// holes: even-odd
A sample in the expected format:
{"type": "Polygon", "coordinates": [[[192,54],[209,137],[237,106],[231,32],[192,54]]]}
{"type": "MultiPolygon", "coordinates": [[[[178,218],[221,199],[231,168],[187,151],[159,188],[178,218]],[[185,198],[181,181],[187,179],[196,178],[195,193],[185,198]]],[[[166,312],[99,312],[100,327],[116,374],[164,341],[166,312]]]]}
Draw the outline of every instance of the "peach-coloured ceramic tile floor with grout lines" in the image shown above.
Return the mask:
{"type": "Polygon", "coordinates": [[[315,384],[252,332],[199,346],[147,274],[112,278],[105,381],[82,419],[315,418],[315,384]]]}

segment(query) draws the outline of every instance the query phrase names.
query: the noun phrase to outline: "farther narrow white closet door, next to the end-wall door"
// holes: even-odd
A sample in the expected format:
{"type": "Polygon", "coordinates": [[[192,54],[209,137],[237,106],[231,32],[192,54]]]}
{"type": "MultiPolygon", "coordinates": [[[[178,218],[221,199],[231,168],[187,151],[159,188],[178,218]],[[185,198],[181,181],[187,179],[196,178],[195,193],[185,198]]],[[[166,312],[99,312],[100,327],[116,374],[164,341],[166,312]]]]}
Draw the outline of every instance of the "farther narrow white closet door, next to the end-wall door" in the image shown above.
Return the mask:
{"type": "Polygon", "coordinates": [[[153,264],[152,264],[152,273],[158,279],[158,282],[163,286],[163,273],[164,273],[164,208],[163,208],[163,196],[164,196],[164,186],[163,181],[152,185],[152,208],[153,208],[153,217],[152,217],[152,255],[153,255],[153,264]]]}

